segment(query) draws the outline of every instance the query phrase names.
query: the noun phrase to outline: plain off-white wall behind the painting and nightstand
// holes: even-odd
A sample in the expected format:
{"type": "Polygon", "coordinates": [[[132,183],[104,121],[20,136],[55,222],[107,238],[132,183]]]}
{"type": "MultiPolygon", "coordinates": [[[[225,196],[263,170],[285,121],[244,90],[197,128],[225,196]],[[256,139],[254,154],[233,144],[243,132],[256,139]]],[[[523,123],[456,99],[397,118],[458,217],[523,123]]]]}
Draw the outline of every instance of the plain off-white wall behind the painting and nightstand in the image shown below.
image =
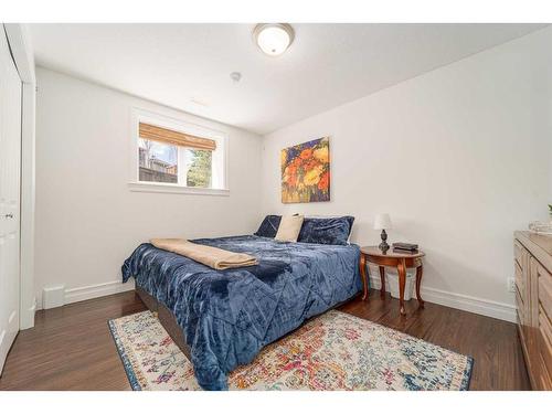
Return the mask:
{"type": "Polygon", "coordinates": [[[426,299],[512,319],[512,232],[552,201],[551,41],[545,29],[266,136],[264,212],[352,214],[362,245],[389,212],[390,241],[427,253],[426,299]],[[282,204],[280,149],[323,136],[331,202],[282,204]]]}

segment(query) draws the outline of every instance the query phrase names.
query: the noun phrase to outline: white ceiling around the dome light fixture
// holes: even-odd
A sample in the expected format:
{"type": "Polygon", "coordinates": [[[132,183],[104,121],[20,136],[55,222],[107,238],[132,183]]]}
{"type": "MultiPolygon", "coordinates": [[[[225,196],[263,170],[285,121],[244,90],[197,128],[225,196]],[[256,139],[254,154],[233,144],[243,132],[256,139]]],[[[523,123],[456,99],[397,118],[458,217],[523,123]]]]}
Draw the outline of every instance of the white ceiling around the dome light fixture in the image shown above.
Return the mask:
{"type": "Polygon", "coordinates": [[[267,134],[544,25],[293,24],[278,57],[254,24],[29,26],[41,66],[267,134]]]}

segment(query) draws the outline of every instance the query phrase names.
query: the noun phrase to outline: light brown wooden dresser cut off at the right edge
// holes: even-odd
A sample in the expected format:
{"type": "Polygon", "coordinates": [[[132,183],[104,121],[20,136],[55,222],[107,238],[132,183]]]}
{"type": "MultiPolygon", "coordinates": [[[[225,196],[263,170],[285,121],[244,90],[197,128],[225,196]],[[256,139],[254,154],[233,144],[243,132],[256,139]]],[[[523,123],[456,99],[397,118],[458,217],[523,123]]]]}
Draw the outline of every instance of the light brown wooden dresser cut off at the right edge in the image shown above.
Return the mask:
{"type": "Polygon", "coordinates": [[[533,390],[552,390],[552,237],[516,232],[518,332],[533,390]]]}

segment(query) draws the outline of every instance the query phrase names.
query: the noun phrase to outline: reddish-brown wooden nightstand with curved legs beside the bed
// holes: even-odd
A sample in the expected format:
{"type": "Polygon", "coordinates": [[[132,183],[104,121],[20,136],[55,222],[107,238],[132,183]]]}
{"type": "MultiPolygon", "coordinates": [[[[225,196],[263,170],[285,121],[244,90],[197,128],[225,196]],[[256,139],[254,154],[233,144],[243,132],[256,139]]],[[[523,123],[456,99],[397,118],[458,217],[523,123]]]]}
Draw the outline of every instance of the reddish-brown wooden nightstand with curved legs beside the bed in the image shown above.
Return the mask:
{"type": "Polygon", "coordinates": [[[420,306],[424,307],[424,301],[420,296],[420,285],[422,284],[422,275],[424,267],[422,264],[422,257],[425,253],[417,251],[416,253],[395,253],[392,250],[383,253],[378,246],[365,246],[360,248],[360,274],[362,276],[362,283],[364,285],[364,296],[362,300],[368,297],[368,279],[367,279],[367,262],[373,263],[380,267],[380,278],[381,278],[381,295],[385,295],[385,266],[396,267],[399,273],[399,293],[401,298],[401,315],[406,315],[404,310],[404,286],[406,285],[406,269],[416,268],[416,299],[420,306]]]}

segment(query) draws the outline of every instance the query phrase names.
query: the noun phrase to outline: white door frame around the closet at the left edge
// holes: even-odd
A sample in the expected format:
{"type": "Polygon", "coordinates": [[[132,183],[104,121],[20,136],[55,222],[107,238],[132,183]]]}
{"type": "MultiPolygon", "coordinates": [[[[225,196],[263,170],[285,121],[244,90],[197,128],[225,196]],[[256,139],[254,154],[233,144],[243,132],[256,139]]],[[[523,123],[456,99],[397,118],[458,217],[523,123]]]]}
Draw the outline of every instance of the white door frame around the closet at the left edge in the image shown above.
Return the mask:
{"type": "Polygon", "coordinates": [[[20,329],[34,327],[34,142],[36,77],[31,36],[25,24],[4,23],[15,67],[22,83],[21,105],[21,222],[20,222],[20,329]]]}

